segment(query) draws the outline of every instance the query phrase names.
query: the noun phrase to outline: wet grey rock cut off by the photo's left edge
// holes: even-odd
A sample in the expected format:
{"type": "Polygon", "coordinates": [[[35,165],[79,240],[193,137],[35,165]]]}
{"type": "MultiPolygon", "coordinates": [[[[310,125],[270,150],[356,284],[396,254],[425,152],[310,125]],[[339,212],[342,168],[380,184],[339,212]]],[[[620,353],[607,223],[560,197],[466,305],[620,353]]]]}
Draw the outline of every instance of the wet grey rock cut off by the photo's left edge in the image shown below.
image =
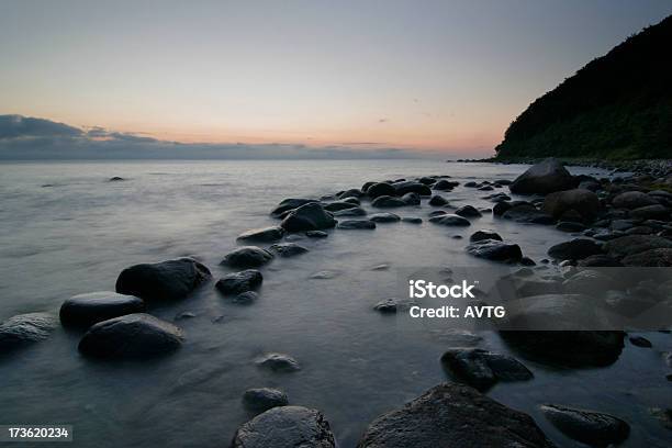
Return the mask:
{"type": "Polygon", "coordinates": [[[56,320],[46,313],[27,313],[10,317],[0,324],[0,351],[10,351],[46,339],[55,326],[56,320]]]}

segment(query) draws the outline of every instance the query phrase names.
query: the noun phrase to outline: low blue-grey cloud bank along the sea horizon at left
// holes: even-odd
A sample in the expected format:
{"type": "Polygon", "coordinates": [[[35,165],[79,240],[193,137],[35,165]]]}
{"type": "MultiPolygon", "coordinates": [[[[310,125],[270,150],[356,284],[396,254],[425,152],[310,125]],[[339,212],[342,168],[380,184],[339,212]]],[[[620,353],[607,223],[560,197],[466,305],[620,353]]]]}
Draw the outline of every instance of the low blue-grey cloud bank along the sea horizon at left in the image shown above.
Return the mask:
{"type": "Polygon", "coordinates": [[[86,130],[49,120],[0,115],[0,160],[68,159],[374,159],[417,158],[422,154],[374,142],[306,146],[271,143],[179,143],[101,126],[86,130]],[[359,146],[359,147],[357,147],[359,146]]]}

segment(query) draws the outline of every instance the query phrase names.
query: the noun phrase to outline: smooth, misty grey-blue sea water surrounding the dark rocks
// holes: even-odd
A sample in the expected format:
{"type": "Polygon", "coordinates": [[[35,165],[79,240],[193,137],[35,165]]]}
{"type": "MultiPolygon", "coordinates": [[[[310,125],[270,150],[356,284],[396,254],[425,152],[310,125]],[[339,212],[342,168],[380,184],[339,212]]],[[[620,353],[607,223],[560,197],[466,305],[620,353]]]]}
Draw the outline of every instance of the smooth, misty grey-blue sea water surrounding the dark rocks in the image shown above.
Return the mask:
{"type": "MultiPolygon", "coordinates": [[[[236,247],[236,236],[277,224],[269,211],[284,198],[425,175],[449,175],[462,183],[513,179],[524,169],[428,160],[2,164],[0,321],[27,312],[57,314],[74,294],[113,290],[119,272],[138,262],[194,256],[216,280],[228,271],[219,262],[236,247]],[[126,180],[109,182],[112,176],[126,180]]],[[[492,206],[481,199],[488,192],[461,186],[441,194],[456,205],[492,206]]],[[[423,203],[399,213],[426,220],[432,210],[423,203]]],[[[183,301],[152,307],[167,321],[195,314],[176,322],[187,339],[167,357],[91,361],[77,351],[81,333],[60,327],[47,340],[2,357],[0,424],[71,424],[77,447],[227,446],[250,418],[243,392],[277,387],[292,404],[323,411],[339,446],[354,447],[374,417],[446,380],[439,357],[464,344],[448,324],[445,332],[408,332],[396,317],[372,311],[373,304],[395,295],[399,269],[489,266],[464,253],[478,228],[495,229],[536,260],[569,238],[552,226],[491,215],[468,228],[425,221],[304,238],[299,243],[307,254],[262,268],[260,298],[249,306],[223,299],[212,282],[183,301]],[[390,268],[372,269],[379,265],[390,268]],[[323,270],[333,278],[311,279],[323,270]],[[290,354],[302,370],[258,369],[254,359],[266,351],[290,354]]],[[[508,352],[496,335],[481,336],[481,347],[508,352]]],[[[672,350],[671,338],[647,337],[653,349],[626,343],[618,361],[606,368],[553,369],[525,360],[533,381],[500,383],[489,395],[529,413],[559,446],[573,443],[544,419],[539,404],[609,412],[631,424],[623,446],[669,446],[669,429],[649,408],[672,402],[662,360],[662,352],[672,350]]]]}

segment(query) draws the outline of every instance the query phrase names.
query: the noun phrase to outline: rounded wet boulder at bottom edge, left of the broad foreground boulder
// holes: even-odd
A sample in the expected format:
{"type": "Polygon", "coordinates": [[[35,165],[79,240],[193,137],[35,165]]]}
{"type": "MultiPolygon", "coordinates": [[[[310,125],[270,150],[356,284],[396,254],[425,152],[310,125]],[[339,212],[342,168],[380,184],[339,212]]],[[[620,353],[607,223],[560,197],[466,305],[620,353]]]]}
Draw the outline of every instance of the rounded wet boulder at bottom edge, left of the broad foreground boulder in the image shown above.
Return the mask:
{"type": "Polygon", "coordinates": [[[238,428],[231,448],[335,448],[324,415],[302,406],[278,406],[238,428]]]}

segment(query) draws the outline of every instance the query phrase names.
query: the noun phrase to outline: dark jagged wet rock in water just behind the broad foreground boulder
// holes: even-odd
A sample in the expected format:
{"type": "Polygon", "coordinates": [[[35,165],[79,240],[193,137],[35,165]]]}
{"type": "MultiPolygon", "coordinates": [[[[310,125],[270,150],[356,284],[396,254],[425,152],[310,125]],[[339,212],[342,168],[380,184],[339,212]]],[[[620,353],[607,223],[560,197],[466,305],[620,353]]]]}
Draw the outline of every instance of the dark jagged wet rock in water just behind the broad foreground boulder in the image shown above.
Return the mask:
{"type": "Polygon", "coordinates": [[[525,381],[533,373],[515,358],[480,348],[455,348],[446,351],[441,363],[460,381],[485,391],[497,381],[525,381]]]}

